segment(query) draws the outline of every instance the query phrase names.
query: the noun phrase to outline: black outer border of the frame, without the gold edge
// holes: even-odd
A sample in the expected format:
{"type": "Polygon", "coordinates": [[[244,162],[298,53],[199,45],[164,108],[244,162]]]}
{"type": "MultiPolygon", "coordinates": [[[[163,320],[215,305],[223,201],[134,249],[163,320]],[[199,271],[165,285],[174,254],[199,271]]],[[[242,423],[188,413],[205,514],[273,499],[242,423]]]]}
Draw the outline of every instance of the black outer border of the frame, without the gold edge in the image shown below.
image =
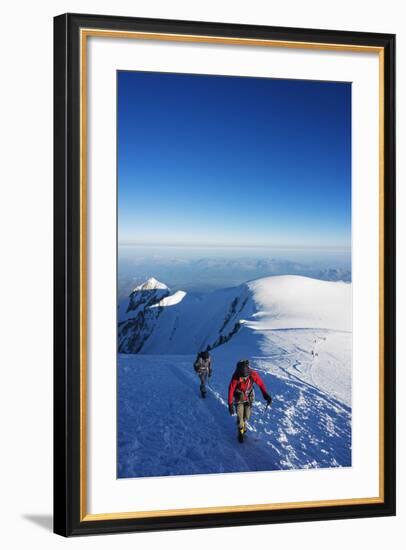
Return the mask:
{"type": "Polygon", "coordinates": [[[103,15],[54,18],[54,532],[63,536],[395,515],[395,35],[103,15]],[[360,45],[384,51],[384,499],[136,519],[80,518],[80,29],[360,45]]]}

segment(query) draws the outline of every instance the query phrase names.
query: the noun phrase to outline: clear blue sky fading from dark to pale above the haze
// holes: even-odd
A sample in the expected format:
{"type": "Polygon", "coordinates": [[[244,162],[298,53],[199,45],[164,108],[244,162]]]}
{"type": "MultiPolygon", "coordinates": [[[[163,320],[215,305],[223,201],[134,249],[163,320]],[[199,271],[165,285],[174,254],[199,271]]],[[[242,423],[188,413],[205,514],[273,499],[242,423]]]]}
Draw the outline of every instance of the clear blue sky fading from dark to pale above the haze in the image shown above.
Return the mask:
{"type": "Polygon", "coordinates": [[[349,246],[351,84],[118,72],[118,231],[349,246]]]}

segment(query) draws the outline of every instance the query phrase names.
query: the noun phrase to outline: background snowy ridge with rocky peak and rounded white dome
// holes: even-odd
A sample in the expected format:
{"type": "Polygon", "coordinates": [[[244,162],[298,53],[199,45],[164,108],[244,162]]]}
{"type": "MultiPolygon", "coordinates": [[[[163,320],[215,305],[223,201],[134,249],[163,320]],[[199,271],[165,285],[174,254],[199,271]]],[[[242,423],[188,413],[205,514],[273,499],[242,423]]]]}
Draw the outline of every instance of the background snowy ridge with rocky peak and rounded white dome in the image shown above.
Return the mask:
{"type": "Polygon", "coordinates": [[[119,352],[196,353],[228,342],[242,326],[257,331],[351,331],[348,283],[285,275],[218,290],[202,298],[183,291],[171,295],[166,285],[156,283],[149,279],[120,304],[119,352]]]}

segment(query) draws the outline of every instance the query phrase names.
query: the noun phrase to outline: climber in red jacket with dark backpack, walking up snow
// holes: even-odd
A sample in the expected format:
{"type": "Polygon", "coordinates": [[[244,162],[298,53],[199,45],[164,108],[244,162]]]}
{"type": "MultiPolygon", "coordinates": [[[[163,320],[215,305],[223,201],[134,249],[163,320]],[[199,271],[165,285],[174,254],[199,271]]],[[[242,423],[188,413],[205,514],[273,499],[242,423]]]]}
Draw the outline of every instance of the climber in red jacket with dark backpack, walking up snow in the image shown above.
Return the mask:
{"type": "Polygon", "coordinates": [[[267,392],[265,384],[259,374],[250,369],[247,359],[238,361],[237,367],[231,378],[228,388],[228,410],[231,415],[237,409],[238,440],[244,441],[244,434],[247,430],[247,421],[251,416],[251,407],[254,402],[254,384],[257,384],[262,395],[270,405],[272,397],[267,392]]]}

